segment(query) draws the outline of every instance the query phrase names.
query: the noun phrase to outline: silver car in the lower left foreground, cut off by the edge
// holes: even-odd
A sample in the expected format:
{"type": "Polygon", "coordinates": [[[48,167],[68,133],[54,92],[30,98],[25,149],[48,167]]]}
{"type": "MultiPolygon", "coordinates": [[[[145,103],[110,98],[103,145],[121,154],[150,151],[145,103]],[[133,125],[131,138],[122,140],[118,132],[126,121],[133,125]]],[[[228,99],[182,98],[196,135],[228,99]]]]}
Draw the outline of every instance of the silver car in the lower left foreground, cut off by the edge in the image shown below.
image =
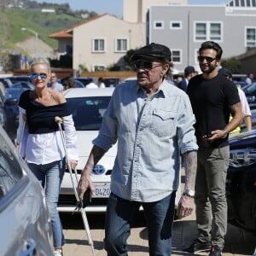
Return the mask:
{"type": "Polygon", "coordinates": [[[54,255],[44,190],[0,127],[0,255],[54,255]]]}

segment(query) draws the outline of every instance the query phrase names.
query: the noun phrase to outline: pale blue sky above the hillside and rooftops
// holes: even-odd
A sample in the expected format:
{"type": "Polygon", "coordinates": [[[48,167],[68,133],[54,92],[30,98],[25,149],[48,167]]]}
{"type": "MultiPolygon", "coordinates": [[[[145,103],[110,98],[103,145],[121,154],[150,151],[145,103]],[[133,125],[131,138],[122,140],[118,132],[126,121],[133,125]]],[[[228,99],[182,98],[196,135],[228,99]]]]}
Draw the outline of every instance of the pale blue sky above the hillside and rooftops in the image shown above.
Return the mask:
{"type": "MultiPolygon", "coordinates": [[[[38,3],[68,3],[73,10],[95,11],[98,15],[110,14],[122,18],[122,0],[38,0],[38,3]]],[[[221,4],[227,3],[225,0],[188,0],[189,4],[221,4]]]]}

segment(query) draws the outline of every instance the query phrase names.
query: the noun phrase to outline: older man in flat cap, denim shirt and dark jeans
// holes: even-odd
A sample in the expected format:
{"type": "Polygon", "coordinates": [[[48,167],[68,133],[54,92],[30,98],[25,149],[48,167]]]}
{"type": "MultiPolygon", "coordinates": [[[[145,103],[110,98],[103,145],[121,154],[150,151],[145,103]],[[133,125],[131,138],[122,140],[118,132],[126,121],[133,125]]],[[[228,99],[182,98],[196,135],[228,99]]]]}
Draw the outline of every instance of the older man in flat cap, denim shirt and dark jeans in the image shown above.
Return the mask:
{"type": "Polygon", "coordinates": [[[143,206],[149,254],[167,256],[172,250],[180,154],[186,183],[179,201],[179,217],[188,216],[194,208],[195,118],[189,97],[165,79],[171,64],[170,49],[152,43],[137,49],[131,61],[137,69],[137,81],[115,88],[79,180],[79,197],[83,199],[86,189],[94,193],[90,172],[118,141],[106,214],[105,249],[108,256],[127,255],[132,220],[143,206]]]}

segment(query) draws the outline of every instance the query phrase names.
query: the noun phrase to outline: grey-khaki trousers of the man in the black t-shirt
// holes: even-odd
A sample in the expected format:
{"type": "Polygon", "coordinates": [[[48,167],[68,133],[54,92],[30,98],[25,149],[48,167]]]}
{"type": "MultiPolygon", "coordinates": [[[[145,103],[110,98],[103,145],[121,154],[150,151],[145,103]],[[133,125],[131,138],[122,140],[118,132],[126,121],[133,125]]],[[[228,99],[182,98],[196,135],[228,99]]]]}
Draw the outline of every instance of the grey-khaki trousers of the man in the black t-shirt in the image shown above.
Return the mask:
{"type": "Polygon", "coordinates": [[[227,231],[225,182],[230,147],[199,148],[195,179],[195,206],[198,239],[224,247],[227,231]]]}

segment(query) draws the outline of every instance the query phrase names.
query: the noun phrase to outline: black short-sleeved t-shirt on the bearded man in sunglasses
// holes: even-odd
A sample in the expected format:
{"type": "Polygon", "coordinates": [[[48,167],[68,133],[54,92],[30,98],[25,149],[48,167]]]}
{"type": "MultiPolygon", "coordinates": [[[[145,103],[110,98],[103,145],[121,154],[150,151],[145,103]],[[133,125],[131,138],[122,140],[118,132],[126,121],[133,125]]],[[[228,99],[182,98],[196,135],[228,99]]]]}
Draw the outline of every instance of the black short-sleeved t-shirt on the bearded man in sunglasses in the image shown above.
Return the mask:
{"type": "Polygon", "coordinates": [[[214,143],[205,143],[203,136],[211,131],[223,130],[230,120],[229,106],[240,102],[236,85],[223,75],[213,79],[204,79],[197,75],[189,80],[187,93],[195,113],[195,135],[200,147],[224,147],[228,138],[219,139],[214,143]]]}

